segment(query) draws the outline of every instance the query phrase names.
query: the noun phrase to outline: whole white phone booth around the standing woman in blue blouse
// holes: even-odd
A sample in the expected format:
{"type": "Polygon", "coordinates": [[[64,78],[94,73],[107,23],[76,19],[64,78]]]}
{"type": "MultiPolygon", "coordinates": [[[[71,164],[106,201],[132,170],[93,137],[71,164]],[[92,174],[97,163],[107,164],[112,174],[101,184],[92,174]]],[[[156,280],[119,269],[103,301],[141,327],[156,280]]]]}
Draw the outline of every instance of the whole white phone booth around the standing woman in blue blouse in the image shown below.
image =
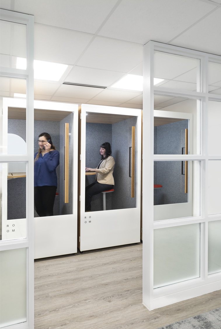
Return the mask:
{"type": "MultiPolygon", "coordinates": [[[[26,150],[26,100],[12,99],[11,103],[8,100],[4,115],[8,118],[9,151],[11,147],[19,147],[23,154],[26,150]]],[[[33,156],[39,149],[38,136],[43,132],[51,135],[59,151],[54,215],[39,217],[33,209],[35,259],[77,252],[77,185],[74,184],[77,181],[77,131],[78,105],[34,101],[33,156]]],[[[13,150],[11,152],[13,154],[13,150]]],[[[7,205],[4,224],[19,226],[16,236],[12,230],[7,234],[11,234],[11,238],[13,234],[14,238],[22,238],[26,234],[26,163],[10,164],[5,170],[8,200],[4,203],[4,207],[7,205]],[[14,202],[20,207],[13,207],[14,202]]]]}

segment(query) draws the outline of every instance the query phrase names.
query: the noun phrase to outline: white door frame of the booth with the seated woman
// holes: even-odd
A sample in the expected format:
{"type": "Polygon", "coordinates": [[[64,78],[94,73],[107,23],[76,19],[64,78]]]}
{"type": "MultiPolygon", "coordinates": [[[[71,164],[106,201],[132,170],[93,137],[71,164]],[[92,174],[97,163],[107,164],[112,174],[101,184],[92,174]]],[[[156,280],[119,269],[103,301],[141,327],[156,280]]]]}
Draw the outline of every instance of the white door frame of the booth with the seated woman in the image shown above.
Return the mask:
{"type": "Polygon", "coordinates": [[[141,110],[81,104],[80,251],[140,242],[141,110]],[[137,207],[85,212],[86,112],[137,116],[137,207]]]}

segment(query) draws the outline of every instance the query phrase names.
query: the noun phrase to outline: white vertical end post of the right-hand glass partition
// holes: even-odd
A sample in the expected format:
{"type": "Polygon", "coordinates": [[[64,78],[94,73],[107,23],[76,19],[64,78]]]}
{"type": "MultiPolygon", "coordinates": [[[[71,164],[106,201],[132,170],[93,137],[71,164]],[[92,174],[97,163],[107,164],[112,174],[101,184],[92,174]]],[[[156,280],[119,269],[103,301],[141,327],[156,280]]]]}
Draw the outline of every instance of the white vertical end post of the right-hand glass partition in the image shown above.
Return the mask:
{"type": "Polygon", "coordinates": [[[154,44],[144,47],[143,93],[143,304],[152,310],[153,295],[153,154],[154,154],[154,44]]]}

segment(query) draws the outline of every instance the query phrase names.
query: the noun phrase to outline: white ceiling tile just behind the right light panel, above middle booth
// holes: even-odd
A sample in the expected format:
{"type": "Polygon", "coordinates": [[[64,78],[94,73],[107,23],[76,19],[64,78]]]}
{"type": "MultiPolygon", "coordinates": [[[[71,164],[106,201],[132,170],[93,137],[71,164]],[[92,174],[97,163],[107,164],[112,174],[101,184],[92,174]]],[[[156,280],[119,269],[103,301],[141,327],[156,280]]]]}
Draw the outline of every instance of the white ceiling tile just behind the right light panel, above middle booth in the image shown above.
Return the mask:
{"type": "Polygon", "coordinates": [[[124,103],[137,95],[138,93],[135,92],[104,89],[101,93],[99,93],[99,95],[95,96],[93,100],[124,103]]]}

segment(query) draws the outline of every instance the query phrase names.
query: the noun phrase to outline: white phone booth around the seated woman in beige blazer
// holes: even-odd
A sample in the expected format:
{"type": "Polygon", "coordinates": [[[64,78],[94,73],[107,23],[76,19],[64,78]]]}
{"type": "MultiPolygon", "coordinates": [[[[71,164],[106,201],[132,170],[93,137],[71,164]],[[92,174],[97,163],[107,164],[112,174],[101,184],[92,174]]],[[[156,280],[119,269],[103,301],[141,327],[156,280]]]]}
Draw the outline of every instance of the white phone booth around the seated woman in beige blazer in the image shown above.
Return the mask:
{"type": "Polygon", "coordinates": [[[140,242],[141,110],[82,104],[80,143],[80,251],[140,242]],[[94,195],[85,211],[85,187],[97,179],[85,167],[97,168],[104,142],[115,162],[114,187],[94,195]]]}

